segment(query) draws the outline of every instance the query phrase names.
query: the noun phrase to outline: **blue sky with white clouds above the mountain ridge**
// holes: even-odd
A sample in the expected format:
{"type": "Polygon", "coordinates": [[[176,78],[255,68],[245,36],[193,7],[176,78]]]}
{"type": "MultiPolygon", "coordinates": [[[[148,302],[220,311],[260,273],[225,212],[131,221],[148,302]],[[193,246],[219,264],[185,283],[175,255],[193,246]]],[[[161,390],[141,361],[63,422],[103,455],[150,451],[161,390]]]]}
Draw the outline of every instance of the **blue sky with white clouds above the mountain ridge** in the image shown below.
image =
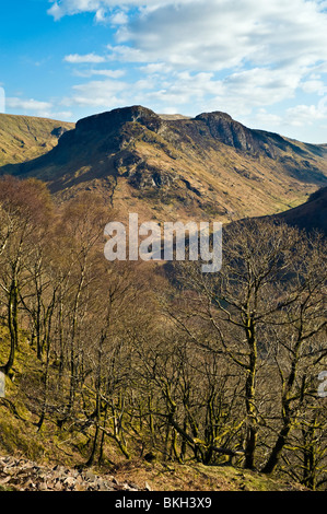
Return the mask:
{"type": "Polygon", "coordinates": [[[0,8],[2,112],[77,121],[129,105],[221,110],[250,128],[327,143],[327,0],[0,8]]]}

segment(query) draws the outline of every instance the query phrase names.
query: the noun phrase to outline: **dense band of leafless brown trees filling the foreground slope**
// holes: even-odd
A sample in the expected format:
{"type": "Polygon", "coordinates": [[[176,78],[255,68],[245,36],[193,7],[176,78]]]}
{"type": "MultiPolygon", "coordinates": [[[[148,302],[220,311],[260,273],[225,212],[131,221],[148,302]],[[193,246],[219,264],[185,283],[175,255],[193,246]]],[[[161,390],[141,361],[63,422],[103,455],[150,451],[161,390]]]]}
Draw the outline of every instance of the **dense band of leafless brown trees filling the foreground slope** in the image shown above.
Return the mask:
{"type": "Polygon", "coordinates": [[[0,370],[27,335],[20,381],[37,430],[84,437],[85,465],[232,464],[326,489],[326,241],[264,221],[230,225],[223,267],[108,262],[101,197],[55,206],[35,179],[0,180],[0,370]]]}

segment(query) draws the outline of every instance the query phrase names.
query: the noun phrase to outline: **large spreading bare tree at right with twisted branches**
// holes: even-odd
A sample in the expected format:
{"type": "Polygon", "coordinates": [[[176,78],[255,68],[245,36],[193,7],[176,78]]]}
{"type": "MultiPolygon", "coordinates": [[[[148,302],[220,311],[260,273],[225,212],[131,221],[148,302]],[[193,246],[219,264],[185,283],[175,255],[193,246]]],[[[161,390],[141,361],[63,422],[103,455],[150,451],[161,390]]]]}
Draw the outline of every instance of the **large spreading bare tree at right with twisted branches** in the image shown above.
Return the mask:
{"type": "MultiPolygon", "coordinates": [[[[283,428],[264,468],[266,472],[275,468],[291,430],[293,416],[288,406],[294,394],[299,352],[326,324],[320,292],[326,278],[324,265],[317,266],[318,256],[324,255],[322,244],[319,248],[317,243],[313,246],[304,234],[285,225],[240,222],[225,232],[223,267],[219,273],[201,273],[198,262],[176,267],[183,284],[183,308],[170,307],[171,317],[199,348],[227,355],[244,377],[246,468],[255,467],[261,424],[258,378],[261,376],[264,382],[262,369],[271,366],[275,341],[269,340],[268,328],[277,325],[294,331],[294,343],[289,350],[291,371],[283,385],[283,428]],[[187,299],[185,290],[192,291],[187,299]],[[293,314],[288,317],[285,313],[293,314]],[[206,338],[203,330],[202,334],[198,328],[195,330],[201,324],[210,327],[213,337],[206,338]]],[[[285,334],[280,337],[287,344],[285,334]]]]}

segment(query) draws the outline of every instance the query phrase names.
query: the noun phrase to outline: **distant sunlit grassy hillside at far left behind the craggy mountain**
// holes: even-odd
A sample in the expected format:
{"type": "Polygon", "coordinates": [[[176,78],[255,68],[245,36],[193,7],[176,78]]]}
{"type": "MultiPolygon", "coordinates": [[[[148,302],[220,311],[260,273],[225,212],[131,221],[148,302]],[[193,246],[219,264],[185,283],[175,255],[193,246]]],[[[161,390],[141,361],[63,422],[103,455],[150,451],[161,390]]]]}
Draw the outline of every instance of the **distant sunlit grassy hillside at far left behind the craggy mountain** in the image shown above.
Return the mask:
{"type": "Polygon", "coordinates": [[[58,144],[74,124],[0,114],[0,166],[38,157],[58,144]]]}

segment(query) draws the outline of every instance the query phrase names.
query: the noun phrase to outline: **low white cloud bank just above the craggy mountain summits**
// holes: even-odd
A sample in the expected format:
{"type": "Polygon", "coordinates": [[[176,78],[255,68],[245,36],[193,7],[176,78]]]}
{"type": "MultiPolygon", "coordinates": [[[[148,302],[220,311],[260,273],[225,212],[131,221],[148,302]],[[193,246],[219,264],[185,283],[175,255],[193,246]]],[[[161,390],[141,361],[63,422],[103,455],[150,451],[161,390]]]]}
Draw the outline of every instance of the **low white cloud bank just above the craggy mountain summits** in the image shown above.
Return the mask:
{"type": "MultiPolygon", "coordinates": [[[[257,127],[262,121],[262,128],[268,130],[269,122],[277,127],[281,117],[268,113],[267,108],[289,97],[294,98],[301,80],[295,72],[283,74],[260,68],[232,73],[224,79],[217,79],[213,72],[183,71],[165,74],[161,72],[161,68],[150,70],[152,73],[132,83],[126,79],[78,84],[73,87],[72,98],[67,98],[66,102],[69,105],[90,105],[101,109],[138,103],[156,112],[171,110],[190,116],[203,110],[224,110],[235,119],[253,121],[257,127]],[[252,113],[253,116],[249,116],[252,113]]],[[[83,72],[81,74],[86,75],[83,72]]],[[[295,110],[293,115],[296,115],[295,110]]],[[[288,114],[288,119],[291,119],[291,114],[288,114]]]]}

